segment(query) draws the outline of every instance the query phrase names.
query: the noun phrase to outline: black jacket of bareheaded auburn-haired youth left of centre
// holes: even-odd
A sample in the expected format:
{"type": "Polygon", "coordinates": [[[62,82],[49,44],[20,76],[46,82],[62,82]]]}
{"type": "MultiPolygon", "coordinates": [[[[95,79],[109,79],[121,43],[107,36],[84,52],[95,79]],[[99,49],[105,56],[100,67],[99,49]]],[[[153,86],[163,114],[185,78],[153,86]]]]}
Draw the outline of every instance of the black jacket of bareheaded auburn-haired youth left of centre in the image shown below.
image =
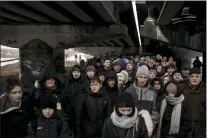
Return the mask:
{"type": "Polygon", "coordinates": [[[109,98],[103,91],[86,95],[81,114],[81,135],[84,137],[101,137],[104,120],[111,114],[109,98]]]}

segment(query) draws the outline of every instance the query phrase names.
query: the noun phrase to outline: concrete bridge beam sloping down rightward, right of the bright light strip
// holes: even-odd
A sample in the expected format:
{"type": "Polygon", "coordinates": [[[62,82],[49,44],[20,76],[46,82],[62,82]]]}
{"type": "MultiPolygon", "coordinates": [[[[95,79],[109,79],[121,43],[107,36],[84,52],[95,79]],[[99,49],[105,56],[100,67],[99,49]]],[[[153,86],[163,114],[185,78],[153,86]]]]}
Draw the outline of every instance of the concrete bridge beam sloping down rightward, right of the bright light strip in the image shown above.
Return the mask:
{"type": "Polygon", "coordinates": [[[140,28],[140,35],[150,39],[169,43],[170,45],[195,50],[198,52],[206,51],[206,33],[197,33],[189,36],[189,32],[184,30],[170,30],[160,26],[140,28]],[[147,30],[147,31],[146,31],[147,30]]]}

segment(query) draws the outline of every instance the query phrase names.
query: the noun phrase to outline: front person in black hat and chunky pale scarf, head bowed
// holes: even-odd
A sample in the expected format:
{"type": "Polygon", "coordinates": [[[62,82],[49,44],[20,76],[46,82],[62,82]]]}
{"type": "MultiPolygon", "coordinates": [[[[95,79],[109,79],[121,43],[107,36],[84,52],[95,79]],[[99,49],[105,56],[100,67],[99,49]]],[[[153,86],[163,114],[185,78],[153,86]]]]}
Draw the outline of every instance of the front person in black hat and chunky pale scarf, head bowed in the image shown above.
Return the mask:
{"type": "Polygon", "coordinates": [[[149,138],[144,119],[130,93],[120,93],[110,119],[105,121],[102,138],[149,138]]]}

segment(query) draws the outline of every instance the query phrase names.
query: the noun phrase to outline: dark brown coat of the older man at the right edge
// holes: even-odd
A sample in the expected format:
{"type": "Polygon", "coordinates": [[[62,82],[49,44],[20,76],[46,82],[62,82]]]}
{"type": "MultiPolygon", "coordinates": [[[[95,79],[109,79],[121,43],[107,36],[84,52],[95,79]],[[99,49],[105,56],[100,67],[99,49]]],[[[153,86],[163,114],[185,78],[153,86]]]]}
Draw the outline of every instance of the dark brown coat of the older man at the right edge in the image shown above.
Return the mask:
{"type": "Polygon", "coordinates": [[[197,87],[190,83],[184,89],[185,99],[192,110],[192,119],[195,124],[195,134],[205,135],[206,133],[206,84],[201,82],[197,87]],[[192,104],[193,103],[193,104],[192,104]]]}

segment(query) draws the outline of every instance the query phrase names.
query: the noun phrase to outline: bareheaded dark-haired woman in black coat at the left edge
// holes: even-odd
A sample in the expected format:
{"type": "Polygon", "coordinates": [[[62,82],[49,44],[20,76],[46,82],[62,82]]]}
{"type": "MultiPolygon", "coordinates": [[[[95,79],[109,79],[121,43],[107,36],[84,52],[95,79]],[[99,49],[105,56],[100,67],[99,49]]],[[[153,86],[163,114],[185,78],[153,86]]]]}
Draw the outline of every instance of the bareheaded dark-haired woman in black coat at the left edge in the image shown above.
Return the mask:
{"type": "Polygon", "coordinates": [[[6,93],[0,98],[1,137],[26,137],[28,123],[34,115],[29,94],[23,93],[21,82],[14,77],[6,83],[6,93]]]}

